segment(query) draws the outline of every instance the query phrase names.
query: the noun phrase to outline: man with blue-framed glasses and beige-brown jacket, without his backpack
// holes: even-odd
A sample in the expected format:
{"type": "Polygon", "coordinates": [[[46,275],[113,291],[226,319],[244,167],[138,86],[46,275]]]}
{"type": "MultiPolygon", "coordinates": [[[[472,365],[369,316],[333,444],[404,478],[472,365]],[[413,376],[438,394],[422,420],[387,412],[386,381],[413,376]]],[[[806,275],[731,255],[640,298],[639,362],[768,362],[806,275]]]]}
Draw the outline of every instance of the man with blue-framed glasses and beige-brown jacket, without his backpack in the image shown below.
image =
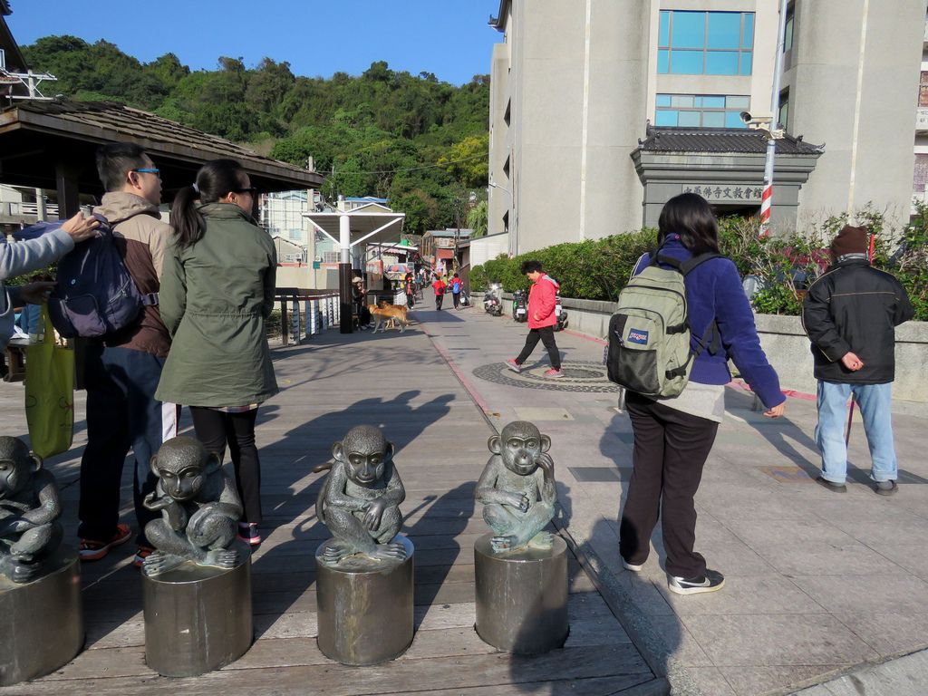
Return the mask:
{"type": "MultiPolygon", "coordinates": [[[[161,176],[134,143],[97,149],[97,173],[106,189],[94,213],[107,219],[129,274],[143,295],[161,286],[161,262],[171,227],[161,222],[161,176]]],[[[135,456],[134,497],[141,565],[150,553],[145,525],[158,513],[142,505],[155,488],[148,462],[177,434],[178,407],[155,400],[171,337],[158,305],[145,306],[134,324],[89,343],[84,363],[87,446],[81,459],[81,561],[97,561],[129,540],[119,522],[122,464],[135,456]]]]}

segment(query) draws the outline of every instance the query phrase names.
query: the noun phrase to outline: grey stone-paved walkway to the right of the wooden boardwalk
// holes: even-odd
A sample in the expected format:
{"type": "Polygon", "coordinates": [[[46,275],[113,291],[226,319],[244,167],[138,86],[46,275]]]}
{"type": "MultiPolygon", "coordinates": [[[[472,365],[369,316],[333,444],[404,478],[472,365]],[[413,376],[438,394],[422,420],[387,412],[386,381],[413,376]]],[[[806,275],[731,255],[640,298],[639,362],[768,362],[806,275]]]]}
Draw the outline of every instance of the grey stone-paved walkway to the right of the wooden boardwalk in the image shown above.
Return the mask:
{"type": "MultiPolygon", "coordinates": [[[[786,418],[771,420],[752,410],[750,393],[729,389],[696,497],[697,548],[727,584],[715,594],[678,597],[666,589],[659,527],[644,571],[621,568],[617,519],[632,433],[603,379],[601,343],[557,334],[567,377],[555,382],[541,377],[548,357],[540,345],[535,367],[530,361],[521,375],[506,369],[522,347],[524,324],[479,309],[417,316],[497,428],[530,419],[551,436],[564,505],[559,525],[581,555],[589,551],[607,594],[612,586],[615,602],[632,600],[626,628],[633,638],[638,627],[645,640],[651,630],[663,638],[664,667],[682,692],[696,692],[694,683],[706,696],[789,693],[928,646],[924,405],[894,406],[899,493],[887,498],[870,489],[856,419],[849,457],[856,468],[839,495],[812,480],[814,402],[790,399],[786,418]]],[[[660,645],[654,654],[661,658],[660,645]]]]}

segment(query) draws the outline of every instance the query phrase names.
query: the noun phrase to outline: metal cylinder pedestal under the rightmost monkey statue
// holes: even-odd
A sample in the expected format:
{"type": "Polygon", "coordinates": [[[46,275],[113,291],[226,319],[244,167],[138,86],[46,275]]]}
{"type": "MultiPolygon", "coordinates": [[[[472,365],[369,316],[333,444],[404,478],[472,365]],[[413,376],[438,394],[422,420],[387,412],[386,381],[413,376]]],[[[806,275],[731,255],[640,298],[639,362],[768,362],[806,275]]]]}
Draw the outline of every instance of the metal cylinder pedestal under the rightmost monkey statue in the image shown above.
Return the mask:
{"type": "Polygon", "coordinates": [[[532,655],[567,640],[567,545],[494,553],[493,534],[473,546],[477,635],[500,650],[532,655]]]}

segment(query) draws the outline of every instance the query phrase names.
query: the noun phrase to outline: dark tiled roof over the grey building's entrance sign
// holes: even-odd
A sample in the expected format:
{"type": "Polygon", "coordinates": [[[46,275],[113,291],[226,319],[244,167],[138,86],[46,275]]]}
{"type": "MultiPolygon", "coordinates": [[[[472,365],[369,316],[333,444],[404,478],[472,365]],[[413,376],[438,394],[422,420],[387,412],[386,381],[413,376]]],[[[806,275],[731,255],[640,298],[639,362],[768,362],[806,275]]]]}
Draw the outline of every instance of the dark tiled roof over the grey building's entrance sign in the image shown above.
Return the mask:
{"type": "MultiPolygon", "coordinates": [[[[777,154],[814,155],[824,146],[803,142],[802,135],[783,135],[776,140],[777,154]]],[[[717,152],[763,154],[767,151],[767,131],[748,128],[656,128],[638,141],[642,152],[717,152]]]]}

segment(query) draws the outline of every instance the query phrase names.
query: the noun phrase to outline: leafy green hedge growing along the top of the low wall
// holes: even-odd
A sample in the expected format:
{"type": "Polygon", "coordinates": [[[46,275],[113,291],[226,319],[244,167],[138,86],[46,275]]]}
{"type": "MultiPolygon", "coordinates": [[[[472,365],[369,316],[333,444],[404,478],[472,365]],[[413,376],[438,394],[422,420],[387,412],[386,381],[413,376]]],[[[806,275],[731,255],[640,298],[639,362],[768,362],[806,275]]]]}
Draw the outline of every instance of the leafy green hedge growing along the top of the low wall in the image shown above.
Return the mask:
{"type": "MultiPolygon", "coordinates": [[[[888,229],[883,215],[870,206],[859,211],[856,224],[866,226],[875,238],[873,265],[894,274],[915,307],[915,318],[928,321],[928,206],[903,230],[888,229]]],[[[831,238],[844,226],[846,216],[835,216],[805,235],[793,233],[759,239],[757,222],[728,217],[719,221],[721,251],[737,266],[741,276],[759,278],[761,290],[752,300],[764,314],[799,315],[806,287],[830,263],[831,238]]],[[[561,283],[561,296],[584,300],[614,301],[625,287],[638,257],[657,244],[657,230],[612,235],[601,239],[568,242],[509,258],[501,254],[470,270],[474,290],[499,282],[505,290],[524,290],[529,281],[520,267],[537,259],[546,273],[561,283]]]]}

